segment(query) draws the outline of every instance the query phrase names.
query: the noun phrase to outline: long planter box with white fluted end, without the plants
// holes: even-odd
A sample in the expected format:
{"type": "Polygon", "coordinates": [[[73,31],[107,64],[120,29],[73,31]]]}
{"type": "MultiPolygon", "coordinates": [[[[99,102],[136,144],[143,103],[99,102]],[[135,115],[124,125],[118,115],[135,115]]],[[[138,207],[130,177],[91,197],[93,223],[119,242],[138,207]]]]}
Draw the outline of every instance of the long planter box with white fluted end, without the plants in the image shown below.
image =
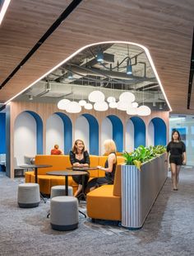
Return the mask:
{"type": "Polygon", "coordinates": [[[140,229],[168,176],[165,154],[141,166],[122,165],[122,226],[140,229]]]}

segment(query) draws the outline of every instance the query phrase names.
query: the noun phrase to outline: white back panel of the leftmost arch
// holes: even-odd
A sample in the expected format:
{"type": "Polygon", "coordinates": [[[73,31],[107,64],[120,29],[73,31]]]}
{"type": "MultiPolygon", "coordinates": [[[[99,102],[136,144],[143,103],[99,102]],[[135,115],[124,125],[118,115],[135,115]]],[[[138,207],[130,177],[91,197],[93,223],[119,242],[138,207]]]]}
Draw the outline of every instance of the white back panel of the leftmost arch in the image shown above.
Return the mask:
{"type": "Polygon", "coordinates": [[[29,113],[17,116],[14,126],[14,157],[17,164],[25,164],[24,156],[36,154],[36,121],[29,113]]]}

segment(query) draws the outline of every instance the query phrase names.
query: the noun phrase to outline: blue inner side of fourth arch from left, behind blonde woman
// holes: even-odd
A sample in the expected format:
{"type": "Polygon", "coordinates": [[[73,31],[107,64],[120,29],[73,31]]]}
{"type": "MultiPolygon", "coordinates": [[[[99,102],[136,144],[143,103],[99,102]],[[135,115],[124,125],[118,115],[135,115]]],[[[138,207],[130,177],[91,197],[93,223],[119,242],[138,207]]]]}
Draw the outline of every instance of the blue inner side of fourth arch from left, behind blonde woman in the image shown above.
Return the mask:
{"type": "Polygon", "coordinates": [[[117,146],[118,152],[122,152],[123,150],[123,126],[122,121],[118,118],[118,116],[107,116],[112,123],[113,126],[113,140],[117,146]]]}

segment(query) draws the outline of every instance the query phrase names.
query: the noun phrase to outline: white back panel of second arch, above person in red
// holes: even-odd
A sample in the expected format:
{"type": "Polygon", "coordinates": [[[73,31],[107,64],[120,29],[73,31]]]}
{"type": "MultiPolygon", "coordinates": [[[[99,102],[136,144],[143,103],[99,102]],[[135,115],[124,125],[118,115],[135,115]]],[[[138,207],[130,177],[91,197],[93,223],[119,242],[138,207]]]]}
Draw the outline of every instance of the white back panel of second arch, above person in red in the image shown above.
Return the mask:
{"type": "Polygon", "coordinates": [[[50,154],[53,145],[58,144],[64,151],[64,125],[60,116],[53,114],[46,125],[46,154],[50,154]]]}

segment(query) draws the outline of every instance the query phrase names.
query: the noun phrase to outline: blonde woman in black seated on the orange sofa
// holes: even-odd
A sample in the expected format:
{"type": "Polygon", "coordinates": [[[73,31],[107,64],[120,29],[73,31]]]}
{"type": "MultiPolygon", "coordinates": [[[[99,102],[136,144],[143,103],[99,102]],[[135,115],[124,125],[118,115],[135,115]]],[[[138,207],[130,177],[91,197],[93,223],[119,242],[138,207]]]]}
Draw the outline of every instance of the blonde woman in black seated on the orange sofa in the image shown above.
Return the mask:
{"type": "Polygon", "coordinates": [[[93,178],[90,183],[88,183],[88,187],[90,191],[94,190],[96,187],[104,184],[113,184],[114,174],[117,167],[117,155],[116,155],[116,145],[113,140],[105,140],[104,141],[104,153],[108,154],[108,159],[104,164],[104,168],[102,166],[98,166],[100,170],[105,172],[104,177],[93,178]]]}

